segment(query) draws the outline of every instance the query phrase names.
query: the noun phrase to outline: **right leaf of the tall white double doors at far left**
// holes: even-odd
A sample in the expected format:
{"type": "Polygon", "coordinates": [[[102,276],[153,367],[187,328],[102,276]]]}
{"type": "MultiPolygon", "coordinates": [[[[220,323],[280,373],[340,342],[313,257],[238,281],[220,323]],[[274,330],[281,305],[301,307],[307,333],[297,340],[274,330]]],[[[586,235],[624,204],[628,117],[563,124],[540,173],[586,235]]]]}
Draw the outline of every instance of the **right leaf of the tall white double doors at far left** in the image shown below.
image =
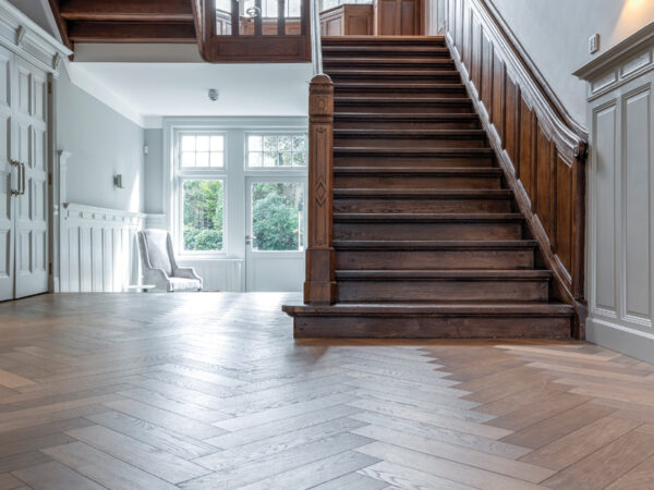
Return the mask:
{"type": "MultiPolygon", "coordinates": [[[[48,79],[19,59],[14,110],[21,193],[15,216],[15,297],[48,291],[48,79]]],[[[14,151],[15,155],[15,151],[14,151]]]]}

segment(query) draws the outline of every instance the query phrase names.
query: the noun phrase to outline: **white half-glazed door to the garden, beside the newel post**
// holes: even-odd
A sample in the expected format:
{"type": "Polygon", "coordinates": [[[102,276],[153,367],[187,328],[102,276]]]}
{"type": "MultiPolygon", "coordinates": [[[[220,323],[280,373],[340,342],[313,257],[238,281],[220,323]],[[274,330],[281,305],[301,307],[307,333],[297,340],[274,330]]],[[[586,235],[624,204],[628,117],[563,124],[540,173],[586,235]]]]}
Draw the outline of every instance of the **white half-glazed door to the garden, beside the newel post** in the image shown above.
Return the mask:
{"type": "Polygon", "coordinates": [[[305,177],[249,177],[247,291],[302,291],[306,234],[305,177]]]}

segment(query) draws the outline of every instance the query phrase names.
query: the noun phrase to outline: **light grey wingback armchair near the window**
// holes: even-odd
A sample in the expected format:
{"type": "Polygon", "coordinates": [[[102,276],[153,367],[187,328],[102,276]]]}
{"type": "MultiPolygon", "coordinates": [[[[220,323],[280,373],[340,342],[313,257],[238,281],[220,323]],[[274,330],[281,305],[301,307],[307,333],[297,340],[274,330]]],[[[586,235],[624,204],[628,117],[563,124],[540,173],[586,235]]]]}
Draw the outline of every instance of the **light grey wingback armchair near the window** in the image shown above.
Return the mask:
{"type": "Polygon", "coordinates": [[[172,250],[172,240],[166,230],[138,232],[138,250],[143,262],[143,282],[157,290],[202,291],[202,278],[192,267],[179,267],[172,250]]]}

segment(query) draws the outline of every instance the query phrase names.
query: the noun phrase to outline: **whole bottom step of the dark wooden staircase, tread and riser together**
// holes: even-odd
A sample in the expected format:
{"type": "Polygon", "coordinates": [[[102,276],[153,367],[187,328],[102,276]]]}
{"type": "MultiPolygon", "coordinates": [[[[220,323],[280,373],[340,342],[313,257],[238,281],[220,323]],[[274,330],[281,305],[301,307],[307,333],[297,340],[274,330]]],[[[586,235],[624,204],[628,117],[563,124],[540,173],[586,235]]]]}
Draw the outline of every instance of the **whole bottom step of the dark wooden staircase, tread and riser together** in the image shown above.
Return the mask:
{"type": "Polygon", "coordinates": [[[286,305],[295,338],[570,339],[562,303],[286,305]]]}

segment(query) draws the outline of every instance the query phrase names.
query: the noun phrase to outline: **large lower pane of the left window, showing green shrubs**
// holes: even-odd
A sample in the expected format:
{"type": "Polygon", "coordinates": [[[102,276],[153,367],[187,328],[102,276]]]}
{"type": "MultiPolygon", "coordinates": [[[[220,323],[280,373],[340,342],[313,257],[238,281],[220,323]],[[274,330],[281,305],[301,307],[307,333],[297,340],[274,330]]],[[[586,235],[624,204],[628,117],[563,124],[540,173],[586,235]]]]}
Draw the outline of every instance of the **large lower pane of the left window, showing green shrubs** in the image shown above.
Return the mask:
{"type": "Polygon", "coordinates": [[[184,181],[184,249],[222,250],[222,181],[184,181]]]}

